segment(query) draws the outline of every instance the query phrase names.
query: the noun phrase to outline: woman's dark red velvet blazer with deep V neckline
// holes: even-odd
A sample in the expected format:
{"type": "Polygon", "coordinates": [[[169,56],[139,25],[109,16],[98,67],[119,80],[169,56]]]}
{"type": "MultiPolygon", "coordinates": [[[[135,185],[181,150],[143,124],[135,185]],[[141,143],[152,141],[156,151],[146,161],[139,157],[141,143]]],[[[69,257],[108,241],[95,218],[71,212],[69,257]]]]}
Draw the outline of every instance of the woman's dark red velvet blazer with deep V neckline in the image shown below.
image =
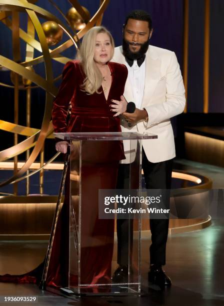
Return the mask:
{"type": "MultiPolygon", "coordinates": [[[[62,82],[53,102],[52,123],[55,132],[117,132],[120,120],[110,111],[111,99],[120,100],[127,78],[127,68],[123,64],[108,62],[112,82],[108,98],[101,93],[86,94],[81,90],[85,74],[78,60],[68,61],[62,73],[62,82]],[[71,102],[71,115],[67,122],[68,104],[71,102]]],[[[122,143],[116,141],[115,159],[123,159],[122,143]]],[[[114,151],[114,150],[113,150],[114,151]]],[[[115,156],[114,156],[115,157],[115,156]]],[[[114,158],[112,158],[114,159],[114,158]]]]}

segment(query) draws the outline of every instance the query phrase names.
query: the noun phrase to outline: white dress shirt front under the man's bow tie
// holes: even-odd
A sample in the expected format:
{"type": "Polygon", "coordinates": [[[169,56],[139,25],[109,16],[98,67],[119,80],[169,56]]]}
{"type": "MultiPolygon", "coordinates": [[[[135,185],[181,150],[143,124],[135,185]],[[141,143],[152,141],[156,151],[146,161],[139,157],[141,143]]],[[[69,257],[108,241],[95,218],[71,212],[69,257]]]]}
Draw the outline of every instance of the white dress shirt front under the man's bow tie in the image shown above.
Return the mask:
{"type": "MultiPolygon", "coordinates": [[[[137,60],[134,59],[132,66],[130,67],[126,62],[128,70],[127,78],[131,83],[132,95],[135,106],[141,109],[142,97],[144,92],[144,78],[145,78],[145,59],[143,63],[138,67],[137,60]]],[[[127,101],[130,102],[130,101],[127,101]]]]}

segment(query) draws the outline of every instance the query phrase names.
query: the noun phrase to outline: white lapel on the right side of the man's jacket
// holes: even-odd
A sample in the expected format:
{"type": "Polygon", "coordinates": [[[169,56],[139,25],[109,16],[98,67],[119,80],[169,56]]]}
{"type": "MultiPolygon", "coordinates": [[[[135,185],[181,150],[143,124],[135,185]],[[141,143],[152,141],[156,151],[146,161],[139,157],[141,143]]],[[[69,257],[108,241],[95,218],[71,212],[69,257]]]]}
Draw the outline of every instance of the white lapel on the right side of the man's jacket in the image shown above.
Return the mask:
{"type": "Polygon", "coordinates": [[[161,78],[161,60],[150,48],[145,54],[145,78],[144,78],[144,92],[142,98],[141,108],[150,102],[153,91],[158,80],[161,78]]]}

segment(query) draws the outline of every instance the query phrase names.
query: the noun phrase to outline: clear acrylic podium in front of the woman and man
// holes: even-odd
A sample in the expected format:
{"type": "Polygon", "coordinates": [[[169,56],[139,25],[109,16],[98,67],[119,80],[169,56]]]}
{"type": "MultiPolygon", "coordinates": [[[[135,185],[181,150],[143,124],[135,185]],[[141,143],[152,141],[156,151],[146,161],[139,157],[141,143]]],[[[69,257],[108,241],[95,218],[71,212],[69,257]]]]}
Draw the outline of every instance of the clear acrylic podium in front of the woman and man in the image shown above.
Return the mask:
{"type": "MultiPolygon", "coordinates": [[[[54,133],[70,141],[69,284],[74,294],[140,292],[140,217],[125,215],[128,228],[127,276],[117,282],[116,213],[99,216],[100,189],[116,189],[122,140],[128,162],[129,189],[141,189],[141,140],[157,138],[138,132],[54,133]],[[128,148],[128,149],[127,149],[128,148]]],[[[125,187],[126,188],[126,187],[125,187]]],[[[67,190],[66,190],[67,192],[67,190]]],[[[114,204],[116,205],[116,203],[114,204]]]]}

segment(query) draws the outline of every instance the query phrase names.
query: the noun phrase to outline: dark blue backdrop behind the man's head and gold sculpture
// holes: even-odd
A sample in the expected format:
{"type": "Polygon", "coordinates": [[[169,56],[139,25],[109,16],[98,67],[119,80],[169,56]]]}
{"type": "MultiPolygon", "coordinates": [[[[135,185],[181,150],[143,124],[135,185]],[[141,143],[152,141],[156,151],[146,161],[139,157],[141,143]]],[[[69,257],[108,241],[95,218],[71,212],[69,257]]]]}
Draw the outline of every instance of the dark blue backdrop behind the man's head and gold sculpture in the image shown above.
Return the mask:
{"type": "MultiPolygon", "coordinates": [[[[64,0],[54,1],[63,13],[71,7],[71,4],[64,0]]],[[[79,0],[79,3],[86,7],[91,16],[98,8],[99,0],[79,0]]],[[[38,0],[35,3],[42,8],[52,12],[58,18],[61,18],[59,12],[47,0],[38,0]]],[[[132,9],[144,9],[148,11],[153,20],[154,32],[150,43],[159,47],[168,48],[175,51],[182,66],[182,33],[183,33],[183,0],[110,0],[110,3],[104,13],[102,24],[105,25],[112,33],[115,45],[122,42],[122,24],[126,14],[132,9]]],[[[26,30],[25,13],[20,12],[20,27],[26,30]]],[[[44,19],[40,19],[44,22],[44,19]]],[[[37,37],[35,37],[38,39],[37,37]]],[[[67,36],[63,34],[61,42],[65,41],[67,36]]],[[[0,54],[12,58],[11,31],[0,22],[0,54]]],[[[20,40],[21,61],[25,56],[25,43],[20,40]]],[[[63,52],[65,56],[75,57],[74,47],[70,47],[63,52]]],[[[34,56],[40,53],[35,50],[34,56]]],[[[44,76],[44,65],[40,63],[34,66],[35,71],[44,76]]],[[[59,75],[63,65],[53,61],[54,77],[59,75]]],[[[0,81],[11,84],[9,71],[0,71],[0,81]]],[[[59,85],[58,81],[56,85],[59,85]]],[[[13,122],[13,89],[0,86],[1,93],[1,116],[0,119],[13,122]]],[[[31,92],[31,126],[39,128],[42,120],[43,108],[45,102],[45,93],[42,89],[32,89],[31,92]]],[[[25,91],[19,92],[19,124],[25,125],[25,91]]],[[[9,147],[13,142],[13,135],[1,131],[1,139],[5,139],[0,144],[0,149],[9,147]]],[[[47,152],[46,152],[47,155],[47,152]]],[[[51,154],[50,154],[51,155],[51,154]]]]}

